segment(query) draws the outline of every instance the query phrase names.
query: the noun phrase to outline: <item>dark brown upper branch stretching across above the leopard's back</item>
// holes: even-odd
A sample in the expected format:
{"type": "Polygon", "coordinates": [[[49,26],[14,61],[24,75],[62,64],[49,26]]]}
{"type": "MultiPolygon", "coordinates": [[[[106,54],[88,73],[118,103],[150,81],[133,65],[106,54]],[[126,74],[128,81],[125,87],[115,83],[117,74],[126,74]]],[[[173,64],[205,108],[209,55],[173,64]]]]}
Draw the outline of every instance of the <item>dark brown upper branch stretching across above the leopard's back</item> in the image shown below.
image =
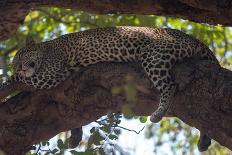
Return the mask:
{"type": "Polygon", "coordinates": [[[1,0],[0,40],[13,36],[30,10],[41,6],[97,14],[153,14],[232,26],[231,0],[1,0]]]}

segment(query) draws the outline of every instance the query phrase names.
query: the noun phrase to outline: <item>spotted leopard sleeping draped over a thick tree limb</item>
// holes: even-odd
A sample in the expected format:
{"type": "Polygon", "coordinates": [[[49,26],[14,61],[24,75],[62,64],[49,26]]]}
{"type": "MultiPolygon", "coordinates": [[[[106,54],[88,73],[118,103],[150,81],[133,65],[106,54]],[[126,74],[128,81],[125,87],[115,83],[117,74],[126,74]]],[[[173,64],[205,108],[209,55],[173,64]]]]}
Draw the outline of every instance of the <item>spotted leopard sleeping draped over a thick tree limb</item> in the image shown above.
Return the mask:
{"type": "Polygon", "coordinates": [[[171,69],[185,58],[219,65],[205,44],[179,30],[133,26],[95,28],[41,43],[28,41],[13,59],[14,75],[9,81],[51,89],[82,67],[98,62],[136,62],[161,94],[158,108],[150,117],[156,123],[169,110],[177,89],[171,69]]]}

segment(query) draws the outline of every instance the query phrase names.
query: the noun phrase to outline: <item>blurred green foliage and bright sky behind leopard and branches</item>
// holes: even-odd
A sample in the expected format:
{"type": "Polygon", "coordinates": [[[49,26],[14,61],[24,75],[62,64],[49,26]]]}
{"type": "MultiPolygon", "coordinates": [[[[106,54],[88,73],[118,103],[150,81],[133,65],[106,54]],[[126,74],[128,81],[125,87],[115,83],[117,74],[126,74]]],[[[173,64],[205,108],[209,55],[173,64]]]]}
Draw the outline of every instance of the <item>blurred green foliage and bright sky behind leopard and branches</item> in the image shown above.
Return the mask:
{"type": "MultiPolygon", "coordinates": [[[[221,65],[232,64],[232,28],[197,24],[181,19],[153,15],[95,15],[81,11],[59,8],[40,8],[31,11],[18,28],[17,34],[0,42],[1,82],[12,75],[11,62],[17,50],[25,45],[28,35],[36,42],[54,39],[67,33],[107,26],[169,27],[195,36],[216,54],[221,65]]],[[[128,100],[134,99],[133,80],[126,77],[124,87],[128,100]],[[131,82],[132,81],[132,82],[131,82]]],[[[117,93],[120,88],[112,89],[117,93]]],[[[62,132],[54,138],[36,144],[31,154],[56,155],[228,155],[231,151],[213,142],[204,153],[197,150],[199,131],[177,118],[166,118],[152,124],[146,116],[135,117],[127,107],[123,115],[111,114],[83,127],[84,135],[80,146],[68,149],[70,132],[62,132]]]]}

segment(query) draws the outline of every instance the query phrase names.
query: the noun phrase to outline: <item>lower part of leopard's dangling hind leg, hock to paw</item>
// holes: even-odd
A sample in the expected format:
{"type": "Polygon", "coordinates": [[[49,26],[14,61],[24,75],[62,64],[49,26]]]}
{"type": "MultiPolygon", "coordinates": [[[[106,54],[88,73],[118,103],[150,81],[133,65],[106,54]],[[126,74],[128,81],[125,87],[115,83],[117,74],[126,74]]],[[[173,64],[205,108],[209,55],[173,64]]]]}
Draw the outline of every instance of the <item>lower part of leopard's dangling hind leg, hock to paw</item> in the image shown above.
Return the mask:
{"type": "Polygon", "coordinates": [[[163,86],[164,89],[161,88],[161,96],[158,109],[156,109],[156,111],[153,112],[150,117],[150,121],[153,123],[159,122],[162,119],[162,117],[166,114],[171,105],[176,90],[176,85],[172,83],[164,84],[163,86]]]}

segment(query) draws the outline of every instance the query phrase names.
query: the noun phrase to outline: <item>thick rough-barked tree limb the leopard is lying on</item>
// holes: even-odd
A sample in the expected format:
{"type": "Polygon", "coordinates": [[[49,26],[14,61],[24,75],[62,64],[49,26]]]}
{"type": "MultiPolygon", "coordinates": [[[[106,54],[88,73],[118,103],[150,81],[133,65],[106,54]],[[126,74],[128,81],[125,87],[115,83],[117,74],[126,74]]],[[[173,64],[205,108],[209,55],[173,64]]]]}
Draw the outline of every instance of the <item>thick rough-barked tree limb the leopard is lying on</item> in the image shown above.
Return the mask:
{"type": "MultiPolygon", "coordinates": [[[[112,95],[124,86],[127,74],[138,88],[136,115],[150,115],[159,93],[135,63],[99,63],[49,91],[24,92],[0,105],[0,148],[8,154],[22,153],[32,144],[61,131],[86,125],[118,112],[126,104],[125,93],[112,95]]],[[[177,116],[232,149],[232,72],[205,61],[177,65],[173,75],[179,90],[169,116],[177,116]]]]}

